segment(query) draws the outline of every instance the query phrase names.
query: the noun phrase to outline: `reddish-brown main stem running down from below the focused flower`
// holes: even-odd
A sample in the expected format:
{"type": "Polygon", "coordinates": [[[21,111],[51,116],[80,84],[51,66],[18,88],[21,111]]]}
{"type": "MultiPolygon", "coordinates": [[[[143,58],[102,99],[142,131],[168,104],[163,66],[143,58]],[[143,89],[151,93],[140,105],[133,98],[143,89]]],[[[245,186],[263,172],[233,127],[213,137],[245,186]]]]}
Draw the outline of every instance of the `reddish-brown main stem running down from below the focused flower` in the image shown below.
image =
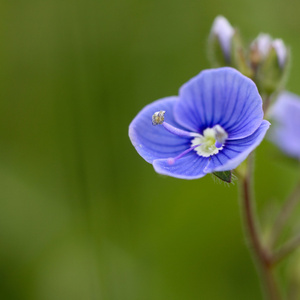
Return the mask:
{"type": "Polygon", "coordinates": [[[248,157],[247,172],[243,176],[242,189],[242,217],[244,219],[244,226],[246,234],[250,242],[250,250],[253,251],[253,256],[256,261],[259,273],[261,275],[262,285],[265,290],[265,295],[268,300],[280,300],[280,294],[274,278],[274,270],[271,255],[262,245],[259,235],[256,216],[253,209],[253,195],[252,189],[252,168],[253,168],[253,154],[248,157]]]}

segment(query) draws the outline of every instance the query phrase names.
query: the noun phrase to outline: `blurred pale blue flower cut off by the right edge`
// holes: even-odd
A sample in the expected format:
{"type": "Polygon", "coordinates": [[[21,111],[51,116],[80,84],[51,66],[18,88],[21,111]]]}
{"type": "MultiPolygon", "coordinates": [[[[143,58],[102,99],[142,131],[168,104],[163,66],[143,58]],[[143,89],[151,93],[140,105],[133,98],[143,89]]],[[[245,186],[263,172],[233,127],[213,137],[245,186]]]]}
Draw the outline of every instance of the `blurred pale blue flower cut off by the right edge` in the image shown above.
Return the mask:
{"type": "Polygon", "coordinates": [[[274,127],[269,139],[284,153],[300,158],[300,97],[282,92],[270,111],[274,127]]]}

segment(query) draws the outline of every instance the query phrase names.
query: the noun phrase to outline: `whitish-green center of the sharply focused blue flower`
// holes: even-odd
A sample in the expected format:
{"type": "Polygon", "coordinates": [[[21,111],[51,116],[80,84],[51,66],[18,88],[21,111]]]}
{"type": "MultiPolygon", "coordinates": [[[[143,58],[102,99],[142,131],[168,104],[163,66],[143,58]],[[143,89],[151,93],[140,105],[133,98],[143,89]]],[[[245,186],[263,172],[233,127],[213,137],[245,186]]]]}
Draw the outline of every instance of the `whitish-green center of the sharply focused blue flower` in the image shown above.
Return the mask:
{"type": "Polygon", "coordinates": [[[206,128],[203,135],[195,137],[192,140],[192,147],[199,145],[194,149],[197,154],[209,157],[223,149],[227,137],[226,131],[220,125],[216,125],[213,128],[206,128]]]}

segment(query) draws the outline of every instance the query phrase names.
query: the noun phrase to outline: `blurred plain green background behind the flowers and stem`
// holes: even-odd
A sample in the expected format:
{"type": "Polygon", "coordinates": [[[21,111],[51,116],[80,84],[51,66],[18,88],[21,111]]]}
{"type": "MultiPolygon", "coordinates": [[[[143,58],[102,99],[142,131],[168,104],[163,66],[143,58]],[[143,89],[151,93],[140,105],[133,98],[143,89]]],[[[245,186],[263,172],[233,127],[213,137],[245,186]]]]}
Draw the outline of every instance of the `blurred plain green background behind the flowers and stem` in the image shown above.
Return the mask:
{"type": "MultiPolygon", "coordinates": [[[[157,175],[128,139],[138,111],[208,68],[222,14],[291,46],[300,2],[0,2],[0,299],[262,299],[237,183],[157,175]]],[[[263,142],[258,209],[295,168],[263,142]]]]}

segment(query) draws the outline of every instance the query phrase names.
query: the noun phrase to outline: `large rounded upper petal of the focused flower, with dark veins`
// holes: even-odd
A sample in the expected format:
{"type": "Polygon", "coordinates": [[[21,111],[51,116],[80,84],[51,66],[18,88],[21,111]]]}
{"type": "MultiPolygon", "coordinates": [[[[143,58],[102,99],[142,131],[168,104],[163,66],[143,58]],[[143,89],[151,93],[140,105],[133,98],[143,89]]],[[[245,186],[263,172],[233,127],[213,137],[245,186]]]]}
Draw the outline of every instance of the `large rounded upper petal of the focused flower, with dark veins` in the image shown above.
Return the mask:
{"type": "Polygon", "coordinates": [[[184,84],[174,114],[179,124],[194,132],[219,124],[228,139],[249,136],[263,119],[256,85],[232,68],[205,70],[184,84]]]}

